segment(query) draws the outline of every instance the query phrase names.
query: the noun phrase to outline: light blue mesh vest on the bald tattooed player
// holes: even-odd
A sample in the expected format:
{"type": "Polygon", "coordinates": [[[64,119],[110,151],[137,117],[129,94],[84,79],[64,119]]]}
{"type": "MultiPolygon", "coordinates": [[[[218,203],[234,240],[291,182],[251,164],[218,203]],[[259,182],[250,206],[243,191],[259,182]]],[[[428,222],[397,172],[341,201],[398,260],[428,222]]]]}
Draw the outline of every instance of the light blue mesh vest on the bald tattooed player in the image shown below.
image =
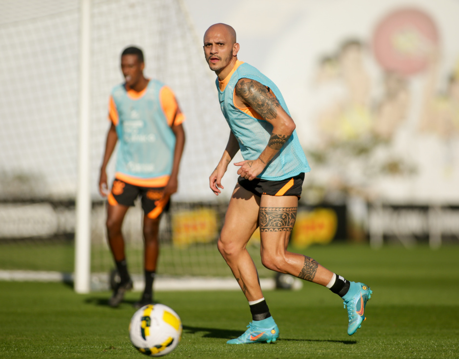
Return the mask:
{"type": "MultiPolygon", "coordinates": [[[[266,148],[272,134],[273,126],[268,121],[253,118],[234,105],[234,87],[242,78],[256,80],[264,86],[269,87],[276,95],[284,111],[289,115],[290,113],[274,82],[269,80],[255,67],[245,62],[239,65],[233,73],[224,91],[220,91],[219,80],[216,80],[221,112],[239,142],[242,157],[244,160],[256,160],[266,148]]],[[[268,163],[258,178],[263,180],[284,180],[309,171],[311,171],[311,168],[299,143],[297,132],[293,131],[290,139],[268,163]]]]}

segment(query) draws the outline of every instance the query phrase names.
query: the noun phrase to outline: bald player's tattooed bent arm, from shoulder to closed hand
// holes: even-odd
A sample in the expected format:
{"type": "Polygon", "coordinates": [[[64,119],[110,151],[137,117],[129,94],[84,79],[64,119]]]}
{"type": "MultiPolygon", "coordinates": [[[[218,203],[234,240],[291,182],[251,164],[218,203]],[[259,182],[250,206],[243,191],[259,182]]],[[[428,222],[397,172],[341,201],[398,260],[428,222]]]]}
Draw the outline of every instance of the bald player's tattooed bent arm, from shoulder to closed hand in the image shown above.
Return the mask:
{"type": "Polygon", "coordinates": [[[273,125],[271,137],[259,158],[235,163],[241,166],[239,175],[253,180],[288,141],[295,130],[295,122],[280,106],[272,90],[256,80],[240,79],[235,87],[234,101],[238,107],[252,107],[263,120],[273,125]]]}

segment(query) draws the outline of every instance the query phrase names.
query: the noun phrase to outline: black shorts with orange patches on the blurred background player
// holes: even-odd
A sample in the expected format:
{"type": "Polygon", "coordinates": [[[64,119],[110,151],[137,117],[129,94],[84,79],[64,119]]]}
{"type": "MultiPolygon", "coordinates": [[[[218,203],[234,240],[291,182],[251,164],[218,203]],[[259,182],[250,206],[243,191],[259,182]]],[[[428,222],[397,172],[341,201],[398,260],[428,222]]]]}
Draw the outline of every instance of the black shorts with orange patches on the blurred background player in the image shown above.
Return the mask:
{"type": "Polygon", "coordinates": [[[108,195],[111,205],[134,206],[134,201],[140,197],[143,212],[152,219],[158,218],[163,211],[169,210],[169,199],[162,198],[164,187],[141,187],[115,179],[108,195]]]}

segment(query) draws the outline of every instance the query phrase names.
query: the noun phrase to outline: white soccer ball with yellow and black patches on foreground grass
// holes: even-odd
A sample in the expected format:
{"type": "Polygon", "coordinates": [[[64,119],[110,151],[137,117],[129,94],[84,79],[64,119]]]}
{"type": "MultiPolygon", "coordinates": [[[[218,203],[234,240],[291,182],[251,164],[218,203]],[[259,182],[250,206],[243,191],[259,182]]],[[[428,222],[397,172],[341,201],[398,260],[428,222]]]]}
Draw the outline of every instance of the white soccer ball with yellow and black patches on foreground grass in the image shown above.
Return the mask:
{"type": "Polygon", "coordinates": [[[181,339],[180,317],[164,304],[141,307],[129,323],[129,339],[140,353],[160,357],[172,352],[181,339]]]}

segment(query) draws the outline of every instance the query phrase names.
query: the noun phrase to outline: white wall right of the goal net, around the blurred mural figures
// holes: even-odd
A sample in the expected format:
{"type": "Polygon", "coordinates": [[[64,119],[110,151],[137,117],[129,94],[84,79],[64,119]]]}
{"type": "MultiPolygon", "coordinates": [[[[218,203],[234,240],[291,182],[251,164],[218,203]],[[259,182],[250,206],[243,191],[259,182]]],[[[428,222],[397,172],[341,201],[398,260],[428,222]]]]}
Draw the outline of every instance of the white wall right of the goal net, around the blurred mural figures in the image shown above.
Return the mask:
{"type": "MultiPolygon", "coordinates": [[[[306,151],[318,145],[317,113],[319,103],[323,105],[314,84],[318,60],[335,51],[343,40],[364,41],[369,45],[364,60],[373,84],[371,97],[377,98],[382,71],[371,51],[371,39],[377,23],[389,12],[413,7],[435,21],[441,54],[437,90],[445,88],[447,77],[459,63],[457,0],[236,0],[230,7],[210,0],[184,0],[184,3],[201,36],[216,22],[228,23],[236,29],[239,60],[258,67],[279,86],[306,151]]],[[[346,178],[341,180],[355,185],[365,196],[383,201],[459,201],[459,136],[456,133],[447,143],[435,134],[418,131],[425,82],[425,73],[409,78],[411,104],[407,119],[386,148],[391,156],[412,163],[417,173],[362,179],[360,171],[348,167],[341,175],[346,178]]],[[[333,172],[340,172],[314,162],[311,165],[313,170],[306,180],[323,181],[325,185],[333,182],[336,176],[333,172]]]]}

